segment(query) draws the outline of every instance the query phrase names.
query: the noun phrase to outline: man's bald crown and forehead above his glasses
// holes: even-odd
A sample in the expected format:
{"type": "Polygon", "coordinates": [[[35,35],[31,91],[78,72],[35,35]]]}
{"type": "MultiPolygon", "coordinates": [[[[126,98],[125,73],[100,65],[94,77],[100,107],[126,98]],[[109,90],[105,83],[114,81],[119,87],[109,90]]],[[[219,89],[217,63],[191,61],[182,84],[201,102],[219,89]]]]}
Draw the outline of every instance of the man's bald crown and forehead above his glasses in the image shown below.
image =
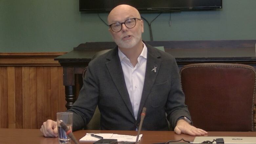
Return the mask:
{"type": "Polygon", "coordinates": [[[127,19],[129,16],[141,19],[139,11],[136,8],[129,5],[118,5],[110,11],[108,15],[108,24],[110,25],[122,18],[127,19]]]}

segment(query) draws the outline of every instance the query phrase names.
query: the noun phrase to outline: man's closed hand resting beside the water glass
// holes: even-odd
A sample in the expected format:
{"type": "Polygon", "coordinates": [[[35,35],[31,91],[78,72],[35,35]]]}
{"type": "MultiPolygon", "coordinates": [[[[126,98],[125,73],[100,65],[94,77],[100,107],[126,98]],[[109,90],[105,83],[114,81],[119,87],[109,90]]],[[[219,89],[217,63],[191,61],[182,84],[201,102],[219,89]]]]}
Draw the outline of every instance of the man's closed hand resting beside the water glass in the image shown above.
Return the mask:
{"type": "Polygon", "coordinates": [[[57,122],[51,119],[43,122],[40,131],[46,137],[57,137],[58,136],[58,129],[57,129],[57,122]]]}

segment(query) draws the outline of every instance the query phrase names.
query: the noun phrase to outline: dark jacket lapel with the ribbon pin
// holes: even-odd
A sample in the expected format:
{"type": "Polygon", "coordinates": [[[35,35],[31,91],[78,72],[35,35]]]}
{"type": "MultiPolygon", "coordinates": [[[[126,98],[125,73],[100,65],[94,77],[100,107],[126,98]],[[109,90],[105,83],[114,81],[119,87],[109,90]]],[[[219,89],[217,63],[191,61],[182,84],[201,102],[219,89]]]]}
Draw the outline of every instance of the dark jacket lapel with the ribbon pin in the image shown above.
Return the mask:
{"type": "Polygon", "coordinates": [[[146,46],[147,46],[147,50],[148,50],[147,65],[146,65],[145,80],[144,80],[137,120],[140,119],[140,113],[141,113],[142,108],[144,107],[144,104],[148,98],[148,95],[151,92],[151,89],[155,83],[155,80],[156,80],[156,77],[158,74],[158,70],[160,69],[160,65],[161,65],[161,60],[159,59],[160,54],[158,53],[158,51],[150,45],[146,44],[146,46]],[[156,72],[154,70],[152,71],[152,69],[154,69],[155,66],[157,67],[156,72]]]}

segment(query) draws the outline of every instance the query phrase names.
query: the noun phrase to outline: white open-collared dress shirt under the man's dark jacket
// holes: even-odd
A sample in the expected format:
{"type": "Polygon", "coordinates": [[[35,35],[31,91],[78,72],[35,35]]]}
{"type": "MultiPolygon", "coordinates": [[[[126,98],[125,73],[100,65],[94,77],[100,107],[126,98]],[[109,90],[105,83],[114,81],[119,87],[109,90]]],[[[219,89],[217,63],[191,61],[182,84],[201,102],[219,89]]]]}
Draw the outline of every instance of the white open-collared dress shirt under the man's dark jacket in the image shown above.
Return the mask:
{"type": "Polygon", "coordinates": [[[147,47],[144,44],[143,50],[138,57],[138,63],[135,67],[133,67],[130,60],[119,50],[119,48],[118,56],[121,61],[126,88],[133,107],[133,113],[135,119],[137,119],[146,72],[147,47]]]}

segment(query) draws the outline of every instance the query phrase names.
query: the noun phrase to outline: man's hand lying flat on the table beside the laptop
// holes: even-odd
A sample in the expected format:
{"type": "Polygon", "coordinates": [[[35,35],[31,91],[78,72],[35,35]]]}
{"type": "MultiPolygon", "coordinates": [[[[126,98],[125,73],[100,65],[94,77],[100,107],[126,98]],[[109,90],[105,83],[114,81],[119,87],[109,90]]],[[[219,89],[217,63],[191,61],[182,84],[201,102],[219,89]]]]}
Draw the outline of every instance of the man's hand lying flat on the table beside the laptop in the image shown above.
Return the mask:
{"type": "Polygon", "coordinates": [[[183,119],[180,119],[177,122],[176,127],[174,128],[174,132],[176,134],[189,134],[192,136],[200,136],[200,135],[204,135],[204,134],[208,134],[206,131],[202,130],[202,129],[198,129],[194,126],[191,126],[188,122],[186,122],[183,119]]]}

